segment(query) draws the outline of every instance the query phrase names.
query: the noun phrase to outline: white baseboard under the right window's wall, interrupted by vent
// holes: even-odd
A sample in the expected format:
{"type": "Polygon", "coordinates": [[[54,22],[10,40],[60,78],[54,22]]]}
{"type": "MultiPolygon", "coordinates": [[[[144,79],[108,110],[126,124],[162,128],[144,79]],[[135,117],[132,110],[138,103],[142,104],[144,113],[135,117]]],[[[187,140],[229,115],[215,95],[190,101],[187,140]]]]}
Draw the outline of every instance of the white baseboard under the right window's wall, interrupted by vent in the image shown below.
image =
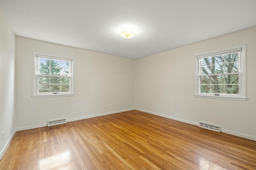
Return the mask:
{"type": "MultiPolygon", "coordinates": [[[[188,123],[188,124],[191,124],[191,125],[199,126],[199,123],[196,123],[196,122],[193,122],[193,121],[188,121],[188,120],[185,120],[185,119],[180,119],[180,118],[177,118],[177,117],[163,115],[163,114],[160,114],[160,113],[155,113],[155,112],[152,112],[152,111],[138,109],[138,108],[135,108],[135,110],[143,111],[143,112],[150,113],[150,114],[153,114],[153,115],[158,115],[158,116],[161,116],[161,117],[166,117],[168,119],[173,119],[173,120],[176,120],[176,121],[181,121],[181,122],[188,123]]],[[[246,135],[244,133],[234,132],[234,131],[230,131],[230,130],[227,130],[227,129],[221,129],[221,132],[228,133],[230,135],[234,135],[234,136],[238,136],[238,137],[243,137],[243,138],[246,138],[246,139],[250,139],[250,140],[256,141],[256,137],[255,136],[246,135]]]]}

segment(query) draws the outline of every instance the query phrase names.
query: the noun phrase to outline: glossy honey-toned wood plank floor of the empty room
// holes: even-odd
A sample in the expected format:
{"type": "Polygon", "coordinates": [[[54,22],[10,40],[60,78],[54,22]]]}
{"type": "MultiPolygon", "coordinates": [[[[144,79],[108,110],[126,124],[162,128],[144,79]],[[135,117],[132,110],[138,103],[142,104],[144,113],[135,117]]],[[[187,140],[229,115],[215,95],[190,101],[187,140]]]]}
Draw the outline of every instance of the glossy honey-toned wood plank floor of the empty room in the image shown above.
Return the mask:
{"type": "Polygon", "coordinates": [[[1,170],[255,170],[256,141],[141,111],[18,131],[1,170]]]}

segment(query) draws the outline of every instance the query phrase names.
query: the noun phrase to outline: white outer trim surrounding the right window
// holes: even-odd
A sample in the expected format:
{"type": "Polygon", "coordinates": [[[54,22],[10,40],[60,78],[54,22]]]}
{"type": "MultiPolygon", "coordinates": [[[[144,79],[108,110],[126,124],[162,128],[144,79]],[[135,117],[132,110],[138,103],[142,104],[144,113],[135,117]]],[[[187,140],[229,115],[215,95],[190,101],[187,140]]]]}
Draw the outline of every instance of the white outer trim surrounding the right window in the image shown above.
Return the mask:
{"type": "Polygon", "coordinates": [[[238,100],[238,101],[246,101],[247,98],[247,92],[246,92],[246,44],[244,45],[239,45],[236,47],[230,47],[227,49],[222,49],[222,50],[216,50],[216,51],[211,51],[211,52],[206,52],[206,53],[200,53],[200,54],[196,54],[194,57],[194,65],[195,65],[195,72],[194,72],[194,96],[196,98],[210,98],[210,99],[222,99],[222,100],[238,100]],[[239,97],[236,96],[214,96],[214,95],[204,95],[204,94],[200,94],[199,92],[199,78],[198,78],[198,70],[199,70],[199,64],[198,64],[198,59],[202,58],[204,56],[212,56],[214,54],[218,54],[221,52],[226,52],[226,51],[231,51],[231,50],[235,50],[235,49],[242,49],[241,54],[242,54],[242,60],[240,62],[240,72],[242,74],[242,78],[241,78],[241,86],[240,87],[240,93],[241,95],[239,97]]]}

